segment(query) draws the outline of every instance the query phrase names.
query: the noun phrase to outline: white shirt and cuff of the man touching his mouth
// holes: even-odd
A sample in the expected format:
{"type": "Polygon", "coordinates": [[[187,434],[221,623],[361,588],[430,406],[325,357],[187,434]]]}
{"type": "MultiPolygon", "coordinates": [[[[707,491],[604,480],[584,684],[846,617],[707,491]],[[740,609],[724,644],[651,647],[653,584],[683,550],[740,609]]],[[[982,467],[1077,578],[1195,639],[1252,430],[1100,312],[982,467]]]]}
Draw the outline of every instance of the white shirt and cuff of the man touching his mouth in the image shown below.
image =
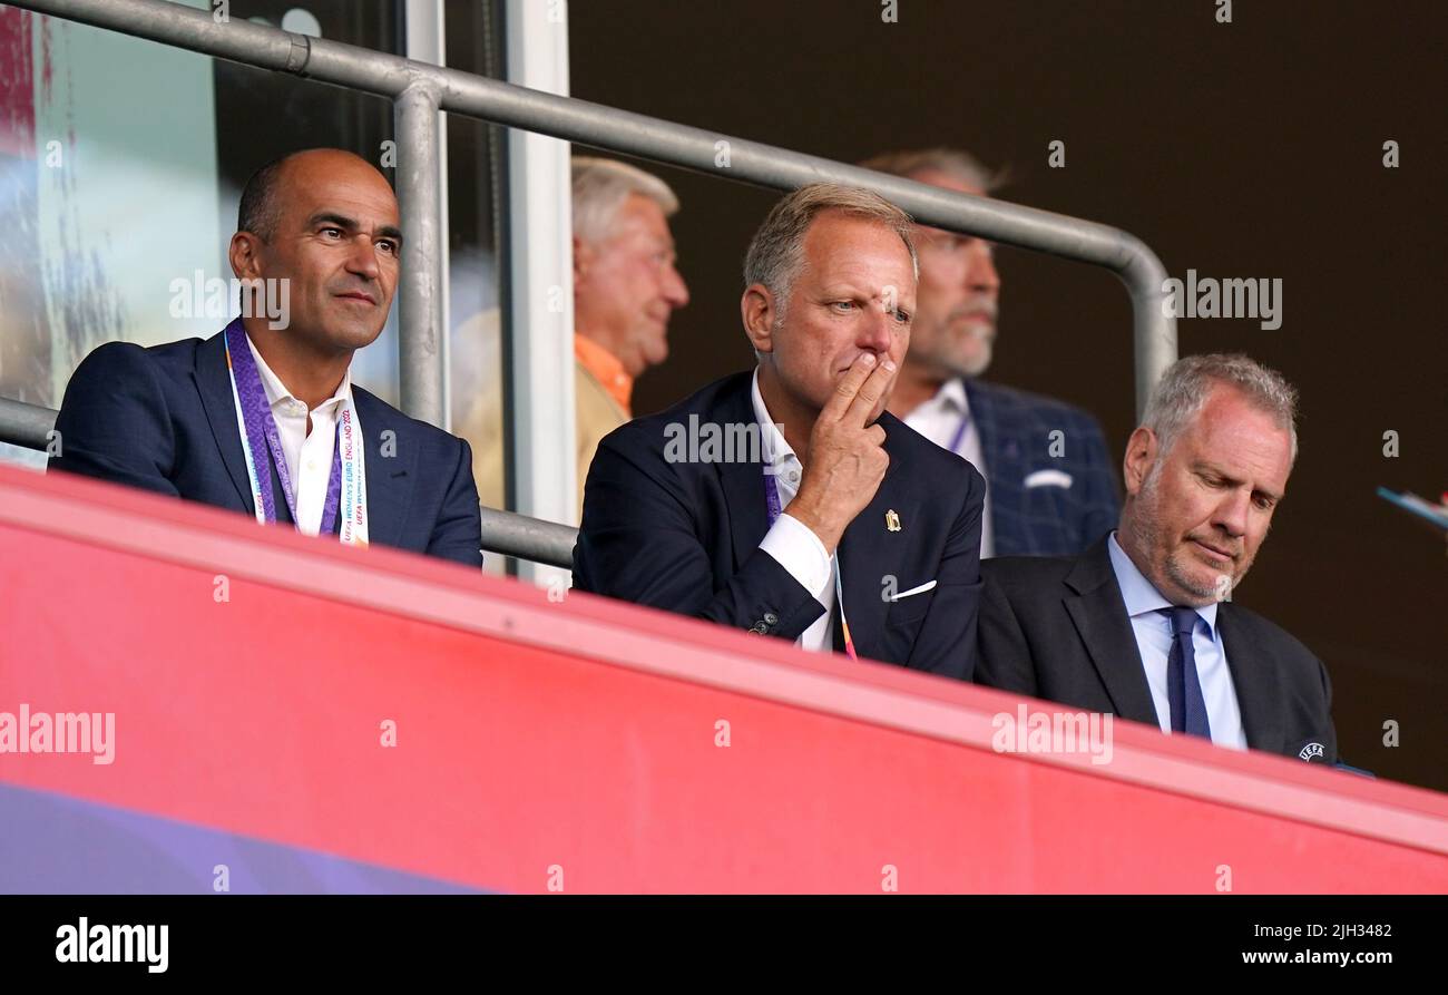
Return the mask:
{"type": "MultiPolygon", "coordinates": [[[[785,436],[769,417],[765,398],[759,392],[759,368],[754,368],[754,381],[750,388],[754,400],[754,420],[759,423],[759,439],[765,466],[775,471],[775,488],[779,491],[779,507],[788,508],[799,492],[799,476],[804,474],[804,463],[795,450],[785,440],[785,436]]],[[[760,475],[759,500],[765,500],[765,481],[760,475]]],[[[798,519],[780,514],[760,540],[759,547],[773,556],[789,575],[799,581],[799,587],[814,595],[814,600],[824,605],[820,616],[809,629],[801,633],[795,646],[817,652],[831,652],[834,649],[834,558],[824,550],[820,536],[798,519]]]]}

